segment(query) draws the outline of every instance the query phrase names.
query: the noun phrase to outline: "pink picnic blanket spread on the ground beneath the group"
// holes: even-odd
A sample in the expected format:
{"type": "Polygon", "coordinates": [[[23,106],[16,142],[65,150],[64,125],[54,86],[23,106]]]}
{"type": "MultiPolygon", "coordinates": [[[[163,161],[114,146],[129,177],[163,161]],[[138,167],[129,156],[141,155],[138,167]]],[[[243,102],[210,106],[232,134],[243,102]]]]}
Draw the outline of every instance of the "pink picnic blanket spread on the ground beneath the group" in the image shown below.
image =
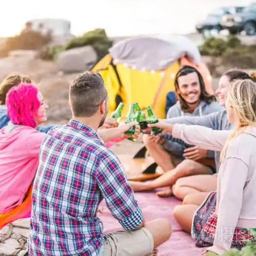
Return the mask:
{"type": "MultiPolygon", "coordinates": [[[[180,226],[173,217],[173,209],[181,202],[175,197],[159,198],[155,192],[135,193],[135,198],[142,209],[146,221],[156,218],[167,218],[172,226],[172,236],[164,244],[158,247],[157,256],[199,256],[204,249],[195,246],[195,242],[189,234],[181,231],[180,226]]],[[[104,208],[102,214],[98,214],[103,221],[105,233],[122,229],[108,209],[104,208]]]]}

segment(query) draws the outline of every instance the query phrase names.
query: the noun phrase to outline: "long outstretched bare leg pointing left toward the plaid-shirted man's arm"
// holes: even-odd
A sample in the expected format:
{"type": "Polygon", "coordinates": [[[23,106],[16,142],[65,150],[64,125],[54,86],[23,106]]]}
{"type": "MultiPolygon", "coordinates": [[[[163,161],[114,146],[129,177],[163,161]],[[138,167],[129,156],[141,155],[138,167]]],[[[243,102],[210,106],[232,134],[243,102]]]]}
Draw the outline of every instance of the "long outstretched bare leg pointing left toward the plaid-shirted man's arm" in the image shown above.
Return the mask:
{"type": "MultiPolygon", "coordinates": [[[[209,174],[207,166],[199,164],[193,160],[185,159],[175,167],[175,169],[166,172],[161,177],[146,182],[129,181],[129,185],[134,191],[150,190],[172,186],[179,178],[196,174],[209,174]]],[[[157,195],[161,196],[161,193],[157,195]]]]}

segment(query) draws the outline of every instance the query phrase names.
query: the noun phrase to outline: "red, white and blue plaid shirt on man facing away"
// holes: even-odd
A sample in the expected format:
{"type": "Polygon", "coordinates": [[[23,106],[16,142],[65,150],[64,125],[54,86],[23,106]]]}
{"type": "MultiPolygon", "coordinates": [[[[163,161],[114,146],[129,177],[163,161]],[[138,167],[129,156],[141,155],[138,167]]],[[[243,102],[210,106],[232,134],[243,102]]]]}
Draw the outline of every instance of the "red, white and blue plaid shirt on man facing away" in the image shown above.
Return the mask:
{"type": "Polygon", "coordinates": [[[141,209],[116,155],[89,126],[71,119],[46,135],[34,182],[29,254],[98,255],[101,200],[121,225],[142,222],[141,209]]]}

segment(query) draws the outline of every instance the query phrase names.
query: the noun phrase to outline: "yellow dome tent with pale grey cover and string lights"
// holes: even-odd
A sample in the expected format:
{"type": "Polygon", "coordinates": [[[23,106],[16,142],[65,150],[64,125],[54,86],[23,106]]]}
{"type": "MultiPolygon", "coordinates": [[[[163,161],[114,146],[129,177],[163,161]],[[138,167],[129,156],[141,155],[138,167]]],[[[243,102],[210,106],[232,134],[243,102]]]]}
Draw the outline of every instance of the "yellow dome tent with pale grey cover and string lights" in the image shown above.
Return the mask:
{"type": "Polygon", "coordinates": [[[108,90],[109,113],[119,101],[138,102],[142,109],[151,106],[159,118],[165,117],[166,95],[174,91],[174,77],[185,65],[198,69],[206,89],[212,93],[209,70],[201,62],[197,47],[184,36],[150,36],[116,43],[92,71],[101,74],[108,90]]]}

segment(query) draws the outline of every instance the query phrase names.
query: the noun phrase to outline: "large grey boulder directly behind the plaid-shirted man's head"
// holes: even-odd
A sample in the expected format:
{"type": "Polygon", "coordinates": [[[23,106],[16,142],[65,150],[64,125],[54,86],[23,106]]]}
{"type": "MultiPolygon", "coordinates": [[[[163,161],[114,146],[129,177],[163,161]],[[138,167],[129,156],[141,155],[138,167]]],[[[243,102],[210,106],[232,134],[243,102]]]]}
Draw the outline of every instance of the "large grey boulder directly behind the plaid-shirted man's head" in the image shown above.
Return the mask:
{"type": "Polygon", "coordinates": [[[57,59],[57,67],[65,73],[86,71],[96,60],[97,54],[92,46],[77,47],[61,52],[57,59]]]}

